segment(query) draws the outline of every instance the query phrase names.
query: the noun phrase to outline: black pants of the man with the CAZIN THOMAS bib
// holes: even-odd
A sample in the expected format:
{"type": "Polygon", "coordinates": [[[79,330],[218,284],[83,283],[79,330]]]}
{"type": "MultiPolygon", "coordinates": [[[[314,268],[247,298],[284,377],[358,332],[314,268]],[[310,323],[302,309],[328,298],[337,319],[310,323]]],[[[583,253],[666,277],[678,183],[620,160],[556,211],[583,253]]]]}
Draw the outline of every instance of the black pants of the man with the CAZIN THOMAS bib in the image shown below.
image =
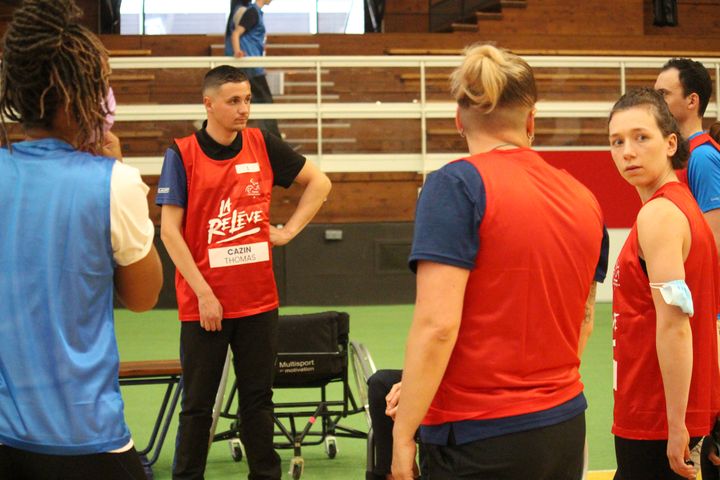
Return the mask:
{"type": "Polygon", "coordinates": [[[251,480],[279,479],[280,456],[273,448],[272,382],[277,356],[277,309],[225,319],[208,332],[200,322],[183,322],[180,361],[183,396],[173,479],[202,479],[207,461],[212,409],[230,345],[238,384],[241,440],[251,480]]]}

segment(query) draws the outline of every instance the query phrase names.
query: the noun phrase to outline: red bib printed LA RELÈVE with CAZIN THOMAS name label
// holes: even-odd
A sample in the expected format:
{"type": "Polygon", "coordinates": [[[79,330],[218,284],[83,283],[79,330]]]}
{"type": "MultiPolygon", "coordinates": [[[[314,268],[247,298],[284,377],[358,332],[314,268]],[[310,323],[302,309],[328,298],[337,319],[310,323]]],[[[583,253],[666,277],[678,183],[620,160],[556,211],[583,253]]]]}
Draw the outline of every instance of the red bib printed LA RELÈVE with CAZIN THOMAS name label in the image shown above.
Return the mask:
{"type": "MultiPolygon", "coordinates": [[[[223,318],[278,306],[270,244],[273,171],[262,132],[241,132],[243,148],[228,160],[207,157],[195,135],[175,140],[187,175],[183,236],[195,264],[223,307],[223,318]]],[[[177,272],[180,320],[199,320],[197,296],[177,272]]]]}

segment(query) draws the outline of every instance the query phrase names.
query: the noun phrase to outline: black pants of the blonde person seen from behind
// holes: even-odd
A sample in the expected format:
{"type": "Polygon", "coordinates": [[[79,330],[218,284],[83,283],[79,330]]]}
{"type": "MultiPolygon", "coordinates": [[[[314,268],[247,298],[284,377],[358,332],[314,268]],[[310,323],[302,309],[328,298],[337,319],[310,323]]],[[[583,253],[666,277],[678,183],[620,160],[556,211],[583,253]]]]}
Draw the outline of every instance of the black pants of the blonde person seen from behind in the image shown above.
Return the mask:
{"type": "Polygon", "coordinates": [[[425,444],[429,480],[580,480],[585,414],[464,445],[425,444]]]}

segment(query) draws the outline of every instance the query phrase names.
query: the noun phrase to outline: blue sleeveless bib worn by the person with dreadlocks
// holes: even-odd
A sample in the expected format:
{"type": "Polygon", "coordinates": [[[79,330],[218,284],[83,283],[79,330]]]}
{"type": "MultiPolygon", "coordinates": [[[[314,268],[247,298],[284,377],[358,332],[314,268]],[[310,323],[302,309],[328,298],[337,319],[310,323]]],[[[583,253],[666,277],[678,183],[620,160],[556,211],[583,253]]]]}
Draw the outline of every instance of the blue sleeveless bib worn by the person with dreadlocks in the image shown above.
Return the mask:
{"type": "Polygon", "coordinates": [[[56,139],[0,149],[0,443],[55,455],[130,441],[113,324],[114,160],[56,139]]]}

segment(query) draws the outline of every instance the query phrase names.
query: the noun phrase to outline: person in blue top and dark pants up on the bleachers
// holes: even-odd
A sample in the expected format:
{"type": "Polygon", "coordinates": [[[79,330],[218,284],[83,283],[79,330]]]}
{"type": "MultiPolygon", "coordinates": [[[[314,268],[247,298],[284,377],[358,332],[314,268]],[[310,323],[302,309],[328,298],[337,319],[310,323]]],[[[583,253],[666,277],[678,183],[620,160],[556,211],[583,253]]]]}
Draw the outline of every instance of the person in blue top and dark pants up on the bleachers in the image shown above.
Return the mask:
{"type": "MultiPolygon", "coordinates": [[[[263,57],[267,33],[263,21],[263,7],[272,0],[232,0],[230,17],[225,28],[225,55],[229,57],[263,57]]],[[[243,69],[253,94],[253,103],[273,103],[265,69],[261,67],[243,69]]],[[[282,138],[277,120],[257,120],[259,128],[282,138]]]]}

